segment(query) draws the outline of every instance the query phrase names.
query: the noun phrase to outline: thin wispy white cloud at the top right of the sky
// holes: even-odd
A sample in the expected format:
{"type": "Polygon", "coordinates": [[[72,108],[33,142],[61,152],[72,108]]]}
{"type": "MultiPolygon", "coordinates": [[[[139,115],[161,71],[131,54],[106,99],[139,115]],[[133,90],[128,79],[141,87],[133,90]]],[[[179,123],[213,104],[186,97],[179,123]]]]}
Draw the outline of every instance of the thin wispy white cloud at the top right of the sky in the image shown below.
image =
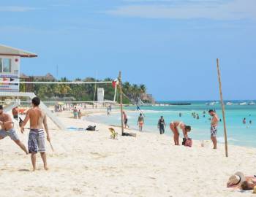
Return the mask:
{"type": "MultiPolygon", "coordinates": [[[[152,0],[128,0],[128,1],[152,1],[152,0]]],[[[160,0],[172,1],[172,0],[160,0]]],[[[176,0],[173,0],[176,1],[176,0]]],[[[173,2],[172,1],[172,2],[173,2]]],[[[256,19],[255,0],[219,1],[214,4],[210,0],[187,0],[183,4],[129,4],[116,9],[110,9],[106,13],[126,17],[139,18],[172,18],[172,19],[194,19],[206,18],[214,20],[240,20],[256,19]],[[188,2],[190,3],[188,4],[188,2]],[[191,2],[194,1],[192,4],[191,2]],[[208,3],[206,3],[208,2],[208,3]],[[211,3],[210,3],[211,2],[211,3]],[[226,3],[224,3],[226,2],[226,3]],[[203,3],[203,4],[202,4],[203,3]]]]}

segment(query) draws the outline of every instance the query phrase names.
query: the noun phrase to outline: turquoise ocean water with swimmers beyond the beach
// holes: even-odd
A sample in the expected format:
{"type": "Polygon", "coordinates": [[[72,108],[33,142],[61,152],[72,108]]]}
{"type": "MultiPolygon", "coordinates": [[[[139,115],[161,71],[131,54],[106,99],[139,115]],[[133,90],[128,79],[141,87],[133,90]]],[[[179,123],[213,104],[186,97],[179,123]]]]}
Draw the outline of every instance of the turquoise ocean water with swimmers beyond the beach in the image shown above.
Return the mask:
{"type": "MultiPolygon", "coordinates": [[[[169,123],[173,120],[182,120],[185,124],[192,126],[192,131],[189,137],[197,140],[210,139],[210,116],[208,115],[208,109],[215,109],[219,118],[223,120],[222,108],[220,104],[214,104],[213,106],[207,106],[207,101],[165,101],[162,103],[191,103],[187,106],[148,106],[140,107],[145,115],[145,132],[159,133],[157,128],[157,122],[161,115],[165,118],[167,128],[165,130],[166,135],[172,134],[169,128],[169,123]],[[203,117],[203,111],[206,111],[206,117],[203,117]],[[192,117],[192,112],[199,115],[199,120],[192,117]],[[179,113],[182,114],[179,117],[179,113]]],[[[225,116],[227,125],[227,139],[229,144],[235,144],[246,147],[256,147],[256,105],[239,105],[242,102],[248,101],[232,101],[233,105],[225,106],[225,116]],[[246,124],[242,123],[242,120],[246,118],[246,124]],[[249,120],[252,120],[252,124],[249,124],[249,120]]],[[[225,102],[226,103],[226,102],[225,102]]],[[[128,125],[130,128],[138,129],[137,120],[139,111],[136,111],[137,107],[124,107],[124,110],[128,111],[128,125]]],[[[120,114],[113,113],[110,116],[98,115],[95,117],[86,117],[87,120],[94,122],[103,122],[107,124],[120,125],[120,114]]],[[[218,142],[224,143],[224,128],[223,121],[219,123],[218,142]]]]}

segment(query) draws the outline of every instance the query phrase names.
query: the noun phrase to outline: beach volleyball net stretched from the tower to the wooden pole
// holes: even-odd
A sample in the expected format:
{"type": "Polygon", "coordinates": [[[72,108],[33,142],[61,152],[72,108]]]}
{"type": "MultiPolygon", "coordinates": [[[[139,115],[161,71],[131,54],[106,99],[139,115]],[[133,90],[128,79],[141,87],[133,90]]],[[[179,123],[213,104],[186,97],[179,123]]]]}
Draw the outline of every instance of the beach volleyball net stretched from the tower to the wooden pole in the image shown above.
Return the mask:
{"type": "MultiPolygon", "coordinates": [[[[9,82],[12,83],[12,82],[9,82]]],[[[113,80],[105,81],[60,81],[60,82],[32,82],[20,81],[20,96],[15,98],[4,98],[4,101],[26,104],[29,101],[23,98],[22,93],[34,93],[45,104],[89,104],[105,106],[105,104],[116,104],[117,87],[113,80]]]]}

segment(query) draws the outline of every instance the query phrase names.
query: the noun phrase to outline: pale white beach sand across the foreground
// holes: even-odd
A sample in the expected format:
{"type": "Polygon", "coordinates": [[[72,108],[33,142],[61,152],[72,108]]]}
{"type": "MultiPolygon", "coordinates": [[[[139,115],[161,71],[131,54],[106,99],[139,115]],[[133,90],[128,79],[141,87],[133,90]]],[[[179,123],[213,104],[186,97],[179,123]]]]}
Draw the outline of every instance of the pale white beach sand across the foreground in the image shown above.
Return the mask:
{"type": "MultiPolygon", "coordinates": [[[[69,115],[66,115],[69,116],[69,115]]],[[[94,125],[61,117],[67,126],[94,125]]],[[[136,138],[110,139],[108,125],[99,131],[50,132],[53,147],[47,143],[49,171],[31,172],[31,162],[9,138],[0,141],[0,196],[256,196],[226,188],[230,174],[243,171],[256,174],[256,149],[224,146],[211,150],[175,147],[170,136],[138,133],[136,138]]],[[[50,128],[55,128],[50,123],[50,128]]],[[[116,128],[120,133],[120,128],[116,128]]],[[[167,129],[167,132],[170,132],[167,129]]],[[[27,143],[28,131],[20,134],[27,143]]]]}

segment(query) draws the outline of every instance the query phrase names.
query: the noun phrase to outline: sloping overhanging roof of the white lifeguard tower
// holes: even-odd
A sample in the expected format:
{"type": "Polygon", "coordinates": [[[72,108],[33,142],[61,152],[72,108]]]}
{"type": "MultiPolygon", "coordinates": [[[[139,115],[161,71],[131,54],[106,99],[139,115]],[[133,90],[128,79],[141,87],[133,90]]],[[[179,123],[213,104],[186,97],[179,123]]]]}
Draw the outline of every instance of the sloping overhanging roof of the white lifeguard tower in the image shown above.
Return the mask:
{"type": "Polygon", "coordinates": [[[9,56],[20,56],[23,58],[35,58],[37,54],[31,53],[25,50],[16,49],[13,47],[8,47],[6,45],[0,44],[0,55],[9,55],[9,56]]]}

